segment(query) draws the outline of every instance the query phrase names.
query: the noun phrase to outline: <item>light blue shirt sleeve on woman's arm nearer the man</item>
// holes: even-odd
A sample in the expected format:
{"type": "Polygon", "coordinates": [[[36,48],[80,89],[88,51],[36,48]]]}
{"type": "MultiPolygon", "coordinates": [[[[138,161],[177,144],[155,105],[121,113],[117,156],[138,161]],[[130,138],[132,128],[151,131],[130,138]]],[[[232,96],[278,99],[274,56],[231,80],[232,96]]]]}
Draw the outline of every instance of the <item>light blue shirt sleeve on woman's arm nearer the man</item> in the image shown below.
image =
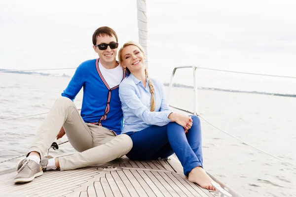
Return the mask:
{"type": "Polygon", "coordinates": [[[151,112],[138,98],[136,87],[133,87],[132,84],[121,83],[119,85],[119,98],[121,103],[127,106],[127,110],[131,111],[148,125],[164,126],[171,122],[168,119],[171,111],[151,112]]]}

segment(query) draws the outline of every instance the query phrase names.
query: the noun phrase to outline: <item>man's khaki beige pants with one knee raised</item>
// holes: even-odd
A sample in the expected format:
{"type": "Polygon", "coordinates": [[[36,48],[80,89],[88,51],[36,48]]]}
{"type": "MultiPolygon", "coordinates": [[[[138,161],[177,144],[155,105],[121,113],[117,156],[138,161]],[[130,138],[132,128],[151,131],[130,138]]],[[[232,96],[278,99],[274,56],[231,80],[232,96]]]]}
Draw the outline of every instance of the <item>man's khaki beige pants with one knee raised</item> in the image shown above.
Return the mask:
{"type": "Polygon", "coordinates": [[[42,159],[62,126],[79,153],[59,157],[61,170],[104,164],[120,158],[132,148],[133,142],[128,135],[115,136],[104,127],[85,123],[72,100],[61,97],[55,101],[38,129],[30,152],[38,152],[42,159]]]}

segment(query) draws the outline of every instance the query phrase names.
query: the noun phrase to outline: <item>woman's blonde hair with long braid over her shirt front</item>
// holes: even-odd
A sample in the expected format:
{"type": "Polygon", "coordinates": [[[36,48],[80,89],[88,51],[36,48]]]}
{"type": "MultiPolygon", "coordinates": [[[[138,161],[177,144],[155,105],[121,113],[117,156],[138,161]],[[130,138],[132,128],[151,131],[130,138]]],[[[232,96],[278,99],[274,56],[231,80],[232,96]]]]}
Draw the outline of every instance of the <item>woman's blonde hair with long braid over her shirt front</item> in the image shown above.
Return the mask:
{"type": "MultiPolygon", "coordinates": [[[[138,44],[138,43],[136,43],[136,42],[134,42],[134,41],[129,41],[129,42],[126,42],[126,43],[124,43],[124,45],[119,49],[119,51],[118,51],[118,60],[119,60],[119,63],[120,63],[120,65],[122,65],[122,56],[121,56],[121,53],[122,53],[122,50],[125,48],[125,47],[127,47],[127,46],[130,46],[130,45],[134,45],[134,46],[136,46],[136,47],[138,47],[139,49],[140,49],[140,51],[144,54],[144,58],[145,58],[145,52],[144,52],[144,49],[143,49],[143,47],[140,45],[140,44],[138,44]]],[[[128,68],[125,68],[125,69],[127,69],[128,70],[128,68]]],[[[129,71],[129,70],[128,70],[129,71]]],[[[130,72],[130,71],[129,71],[130,72]]],[[[148,78],[148,85],[149,85],[149,88],[150,88],[150,93],[151,93],[151,99],[150,99],[150,105],[151,105],[151,107],[150,107],[150,111],[154,111],[155,110],[155,100],[154,100],[154,88],[153,88],[153,83],[152,83],[152,80],[150,79],[150,77],[148,76],[148,72],[147,72],[147,69],[145,68],[145,75],[146,75],[146,77],[148,78]]]]}

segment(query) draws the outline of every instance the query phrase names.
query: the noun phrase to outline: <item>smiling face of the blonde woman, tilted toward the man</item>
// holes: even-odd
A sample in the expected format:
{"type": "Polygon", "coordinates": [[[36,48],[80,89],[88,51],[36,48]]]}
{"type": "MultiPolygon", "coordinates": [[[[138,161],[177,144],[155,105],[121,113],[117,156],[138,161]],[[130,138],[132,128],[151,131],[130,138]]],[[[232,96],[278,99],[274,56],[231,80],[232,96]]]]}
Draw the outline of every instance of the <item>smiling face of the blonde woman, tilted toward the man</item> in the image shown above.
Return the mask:
{"type": "Polygon", "coordinates": [[[127,67],[131,73],[145,69],[144,66],[144,54],[135,45],[129,45],[125,47],[121,52],[122,65],[124,68],[127,67]]]}

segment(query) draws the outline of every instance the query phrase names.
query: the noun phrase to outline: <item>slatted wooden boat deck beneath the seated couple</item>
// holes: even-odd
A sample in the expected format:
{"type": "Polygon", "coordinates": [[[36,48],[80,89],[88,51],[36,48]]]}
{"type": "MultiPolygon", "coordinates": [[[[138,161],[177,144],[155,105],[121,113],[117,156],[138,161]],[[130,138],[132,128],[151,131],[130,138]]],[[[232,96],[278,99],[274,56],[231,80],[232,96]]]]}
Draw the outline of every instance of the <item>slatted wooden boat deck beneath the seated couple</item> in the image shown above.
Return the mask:
{"type": "Polygon", "coordinates": [[[122,157],[104,165],[47,171],[25,184],[14,184],[16,172],[10,170],[0,173],[0,197],[215,197],[189,182],[182,170],[174,157],[157,161],[122,157]]]}

